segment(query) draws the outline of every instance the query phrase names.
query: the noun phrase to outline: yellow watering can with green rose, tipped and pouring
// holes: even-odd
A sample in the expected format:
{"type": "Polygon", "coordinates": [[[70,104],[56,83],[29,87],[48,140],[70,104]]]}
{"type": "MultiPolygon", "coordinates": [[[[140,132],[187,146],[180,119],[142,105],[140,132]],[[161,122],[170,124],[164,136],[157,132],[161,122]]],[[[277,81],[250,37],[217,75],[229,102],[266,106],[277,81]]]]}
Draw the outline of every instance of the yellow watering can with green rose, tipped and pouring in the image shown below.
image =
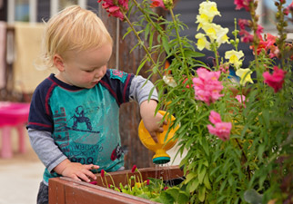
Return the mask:
{"type": "MultiPolygon", "coordinates": [[[[158,111],[158,112],[162,115],[165,115],[167,113],[165,111],[158,111]]],[[[176,144],[177,140],[172,140],[172,138],[175,132],[177,131],[177,129],[179,128],[179,125],[177,125],[177,127],[175,128],[172,128],[168,132],[168,134],[167,134],[167,130],[172,125],[172,121],[174,120],[175,120],[175,117],[172,115],[171,121],[167,121],[167,125],[163,126],[164,131],[162,133],[157,133],[157,141],[158,141],[157,143],[150,136],[149,132],[147,131],[145,127],[144,122],[141,120],[139,123],[139,126],[138,126],[139,139],[148,150],[155,152],[155,155],[153,157],[153,162],[155,164],[164,164],[170,161],[170,156],[167,154],[166,151],[170,150],[176,144]]]]}

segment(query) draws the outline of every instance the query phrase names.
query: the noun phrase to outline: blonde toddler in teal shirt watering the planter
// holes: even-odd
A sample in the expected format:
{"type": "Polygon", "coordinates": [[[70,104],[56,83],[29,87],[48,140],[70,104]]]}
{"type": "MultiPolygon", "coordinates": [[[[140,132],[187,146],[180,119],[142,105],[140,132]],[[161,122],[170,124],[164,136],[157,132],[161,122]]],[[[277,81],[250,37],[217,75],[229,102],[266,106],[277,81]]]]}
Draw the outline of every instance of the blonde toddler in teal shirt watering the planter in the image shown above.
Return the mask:
{"type": "Polygon", "coordinates": [[[27,125],[31,145],[45,164],[37,203],[48,202],[48,180],[59,176],[89,182],[100,170],[124,170],[119,106],[139,103],[154,141],[163,132],[155,115],[157,92],[141,76],[108,69],[112,38],[91,11],[67,7],[46,24],[44,63],[55,67],[35,89],[27,125]]]}

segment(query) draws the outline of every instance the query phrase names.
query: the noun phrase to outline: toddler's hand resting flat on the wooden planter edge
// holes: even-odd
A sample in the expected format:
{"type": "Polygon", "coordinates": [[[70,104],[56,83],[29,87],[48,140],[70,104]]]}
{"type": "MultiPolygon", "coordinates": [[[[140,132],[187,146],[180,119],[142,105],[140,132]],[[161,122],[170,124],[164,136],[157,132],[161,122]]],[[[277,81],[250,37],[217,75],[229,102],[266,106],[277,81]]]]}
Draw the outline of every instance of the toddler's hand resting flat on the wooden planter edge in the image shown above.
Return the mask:
{"type": "Polygon", "coordinates": [[[64,160],[54,169],[62,176],[72,178],[74,180],[85,180],[90,182],[90,179],[96,180],[95,174],[90,171],[98,169],[99,166],[93,164],[81,164],[78,162],[71,162],[70,160],[64,160]]]}

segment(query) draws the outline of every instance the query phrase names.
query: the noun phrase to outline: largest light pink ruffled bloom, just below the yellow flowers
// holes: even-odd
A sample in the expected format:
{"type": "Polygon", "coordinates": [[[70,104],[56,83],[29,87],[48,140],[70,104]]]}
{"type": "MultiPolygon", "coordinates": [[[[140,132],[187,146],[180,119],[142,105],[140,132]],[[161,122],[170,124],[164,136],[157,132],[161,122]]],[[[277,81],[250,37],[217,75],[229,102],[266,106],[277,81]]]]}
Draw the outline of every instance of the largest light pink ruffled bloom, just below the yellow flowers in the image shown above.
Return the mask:
{"type": "Polygon", "coordinates": [[[218,81],[220,74],[220,71],[209,72],[205,68],[197,69],[198,77],[192,79],[197,100],[206,102],[209,105],[210,102],[216,102],[224,95],[220,94],[223,89],[222,83],[218,81]]]}

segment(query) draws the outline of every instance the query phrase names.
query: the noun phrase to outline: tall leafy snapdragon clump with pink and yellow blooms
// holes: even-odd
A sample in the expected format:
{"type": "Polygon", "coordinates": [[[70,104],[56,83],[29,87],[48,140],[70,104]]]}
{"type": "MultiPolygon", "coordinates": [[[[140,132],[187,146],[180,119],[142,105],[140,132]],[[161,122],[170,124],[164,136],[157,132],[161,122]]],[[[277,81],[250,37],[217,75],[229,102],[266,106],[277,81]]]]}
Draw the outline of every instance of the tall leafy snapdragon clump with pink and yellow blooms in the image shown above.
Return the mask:
{"type": "Polygon", "coordinates": [[[169,198],[165,203],[242,203],[249,202],[245,195],[255,191],[262,203],[293,202],[293,49],[286,42],[287,15],[293,5],[285,8],[285,2],[275,3],[278,36],[273,36],[262,34],[257,1],[235,0],[236,8],[246,9],[251,19],[239,19],[239,30],[236,23],[234,39],[229,39],[228,29],[213,23],[220,15],[216,3],[204,1],[197,15],[196,44],[180,36],[186,25],[174,15],[171,0],[151,4],[167,9],[171,21],[157,15],[147,0],[104,0],[110,15],[129,24],[126,34],[136,35],[133,50],[146,52],[137,73],[148,62],[150,75],[161,77],[155,83],[157,110],[175,115],[174,125],[180,125],[177,154],[187,150],[180,163],[187,179],[180,188],[169,189],[182,198],[162,193],[169,198]],[[130,22],[128,16],[136,12],[141,16],[130,22]],[[245,54],[239,50],[239,37],[254,52],[255,60],[247,68],[242,67],[245,54]],[[231,45],[225,56],[217,53],[221,44],[231,45]],[[203,54],[196,46],[215,54],[213,66],[198,60],[203,54]],[[164,69],[168,58],[172,62],[164,69]],[[229,68],[236,70],[239,83],[229,77],[229,68]]]}

